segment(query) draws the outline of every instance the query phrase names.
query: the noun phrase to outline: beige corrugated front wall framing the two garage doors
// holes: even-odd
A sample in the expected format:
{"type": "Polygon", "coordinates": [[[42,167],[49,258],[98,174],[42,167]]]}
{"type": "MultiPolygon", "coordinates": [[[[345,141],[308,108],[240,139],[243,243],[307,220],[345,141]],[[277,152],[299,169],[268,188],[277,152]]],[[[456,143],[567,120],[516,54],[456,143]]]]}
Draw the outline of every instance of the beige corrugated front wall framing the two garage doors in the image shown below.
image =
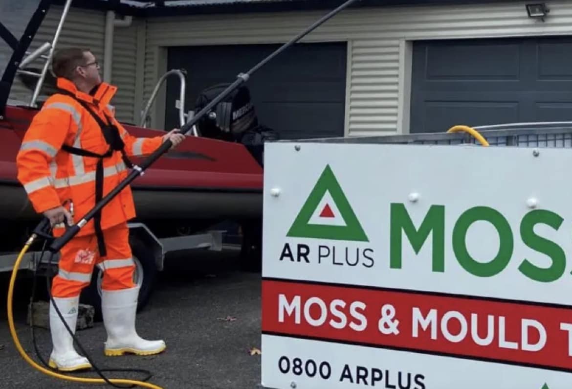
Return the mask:
{"type": "MultiPolygon", "coordinates": [[[[406,133],[413,41],[572,33],[572,2],[549,6],[545,22],[528,18],[525,2],[344,10],[304,41],[349,42],[347,135],[406,133]]],[[[165,72],[168,46],[286,42],[326,12],[152,18],[146,29],[143,95],[148,98],[165,72]]],[[[153,124],[161,128],[164,105],[161,93],[153,111],[153,124]]]]}

